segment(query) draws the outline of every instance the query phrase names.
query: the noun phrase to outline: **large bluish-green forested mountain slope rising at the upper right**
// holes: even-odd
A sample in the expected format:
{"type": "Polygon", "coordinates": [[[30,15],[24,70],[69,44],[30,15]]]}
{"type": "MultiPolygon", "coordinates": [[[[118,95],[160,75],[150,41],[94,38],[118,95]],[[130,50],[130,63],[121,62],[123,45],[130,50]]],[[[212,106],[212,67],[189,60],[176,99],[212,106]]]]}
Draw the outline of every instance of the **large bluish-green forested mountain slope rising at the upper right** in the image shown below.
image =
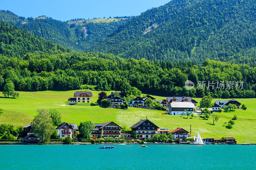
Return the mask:
{"type": "Polygon", "coordinates": [[[132,18],[90,50],[124,58],[255,65],[255,23],[255,0],[172,0],[132,18]],[[159,26],[145,34],[154,23],[159,26]]]}

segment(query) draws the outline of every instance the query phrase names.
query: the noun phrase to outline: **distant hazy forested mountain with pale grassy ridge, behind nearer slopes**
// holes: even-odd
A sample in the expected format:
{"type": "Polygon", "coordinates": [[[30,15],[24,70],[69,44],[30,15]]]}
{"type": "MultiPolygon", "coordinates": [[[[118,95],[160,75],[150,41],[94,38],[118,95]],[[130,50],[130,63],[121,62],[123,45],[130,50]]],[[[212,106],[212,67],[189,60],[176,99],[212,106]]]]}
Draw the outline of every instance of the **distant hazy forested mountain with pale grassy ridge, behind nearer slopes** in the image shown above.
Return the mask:
{"type": "Polygon", "coordinates": [[[84,52],[87,48],[106,38],[115,31],[118,26],[124,24],[128,18],[111,20],[111,22],[88,22],[84,20],[81,24],[75,20],[62,22],[49,17],[39,16],[37,18],[19,17],[11,11],[0,11],[0,20],[12,25],[26,29],[46,40],[60,44],[71,50],[84,52]]]}

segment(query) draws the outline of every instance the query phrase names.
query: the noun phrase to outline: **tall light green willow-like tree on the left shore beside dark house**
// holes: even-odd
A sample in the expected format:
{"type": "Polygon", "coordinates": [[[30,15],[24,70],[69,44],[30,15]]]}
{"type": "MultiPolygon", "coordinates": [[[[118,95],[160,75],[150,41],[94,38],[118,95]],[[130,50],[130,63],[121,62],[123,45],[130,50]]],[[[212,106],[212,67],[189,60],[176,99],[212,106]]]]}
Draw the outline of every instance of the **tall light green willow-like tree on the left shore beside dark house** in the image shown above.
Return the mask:
{"type": "Polygon", "coordinates": [[[52,118],[47,110],[38,109],[37,113],[38,115],[36,115],[33,119],[33,134],[38,135],[41,143],[48,144],[51,135],[56,129],[52,125],[52,118]]]}

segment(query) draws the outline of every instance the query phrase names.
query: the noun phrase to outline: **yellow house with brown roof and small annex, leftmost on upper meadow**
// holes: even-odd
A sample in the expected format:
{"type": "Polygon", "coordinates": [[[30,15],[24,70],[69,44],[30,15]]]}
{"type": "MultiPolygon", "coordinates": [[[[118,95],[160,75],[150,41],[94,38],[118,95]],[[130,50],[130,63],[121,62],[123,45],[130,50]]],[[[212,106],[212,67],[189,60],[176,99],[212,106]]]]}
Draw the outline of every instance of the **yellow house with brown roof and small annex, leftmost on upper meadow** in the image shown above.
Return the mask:
{"type": "Polygon", "coordinates": [[[70,105],[77,103],[91,103],[92,92],[76,91],[73,98],[68,98],[70,105]]]}

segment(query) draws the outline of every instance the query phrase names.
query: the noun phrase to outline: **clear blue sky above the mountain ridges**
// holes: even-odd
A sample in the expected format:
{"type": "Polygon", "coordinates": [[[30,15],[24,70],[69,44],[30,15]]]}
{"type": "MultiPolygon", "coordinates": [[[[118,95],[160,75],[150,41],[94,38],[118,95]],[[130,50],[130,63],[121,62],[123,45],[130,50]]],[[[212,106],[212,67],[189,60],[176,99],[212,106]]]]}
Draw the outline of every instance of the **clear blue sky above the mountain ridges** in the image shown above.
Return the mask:
{"type": "Polygon", "coordinates": [[[136,16],[152,7],[170,0],[0,0],[0,9],[9,10],[22,17],[46,15],[66,21],[72,18],[103,18],[136,16]]]}

